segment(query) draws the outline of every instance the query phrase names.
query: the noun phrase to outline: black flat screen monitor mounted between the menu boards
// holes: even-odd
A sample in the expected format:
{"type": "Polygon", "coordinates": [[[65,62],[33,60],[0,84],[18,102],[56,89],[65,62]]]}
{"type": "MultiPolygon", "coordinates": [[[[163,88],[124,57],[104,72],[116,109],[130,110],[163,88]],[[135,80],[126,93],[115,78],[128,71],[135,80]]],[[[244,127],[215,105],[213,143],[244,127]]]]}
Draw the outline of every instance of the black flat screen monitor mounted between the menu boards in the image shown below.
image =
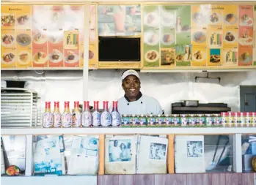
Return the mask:
{"type": "Polygon", "coordinates": [[[140,38],[99,37],[99,61],[140,61],[140,38]]]}

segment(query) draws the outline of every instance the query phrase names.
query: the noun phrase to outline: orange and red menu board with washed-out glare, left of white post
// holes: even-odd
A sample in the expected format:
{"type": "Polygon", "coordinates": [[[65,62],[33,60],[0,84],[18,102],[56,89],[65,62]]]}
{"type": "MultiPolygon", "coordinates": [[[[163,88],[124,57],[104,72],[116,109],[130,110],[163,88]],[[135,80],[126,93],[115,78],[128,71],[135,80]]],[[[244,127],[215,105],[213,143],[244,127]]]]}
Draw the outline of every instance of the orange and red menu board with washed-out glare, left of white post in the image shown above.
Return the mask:
{"type": "Polygon", "coordinates": [[[2,5],[1,12],[1,68],[83,67],[84,6],[2,5]]]}

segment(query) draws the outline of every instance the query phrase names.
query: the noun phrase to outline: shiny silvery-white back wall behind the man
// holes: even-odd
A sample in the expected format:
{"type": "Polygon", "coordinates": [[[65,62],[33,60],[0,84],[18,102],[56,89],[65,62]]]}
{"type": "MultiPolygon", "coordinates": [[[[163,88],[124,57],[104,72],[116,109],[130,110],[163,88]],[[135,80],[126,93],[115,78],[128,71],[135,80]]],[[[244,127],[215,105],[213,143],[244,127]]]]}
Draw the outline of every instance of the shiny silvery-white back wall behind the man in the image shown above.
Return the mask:
{"type": "MultiPolygon", "coordinates": [[[[89,72],[89,101],[116,100],[123,96],[122,70],[93,70],[89,72]]],[[[221,83],[213,79],[199,79],[203,73],[141,73],[142,94],[155,97],[165,113],[170,112],[171,103],[182,99],[199,99],[200,102],[224,102],[233,111],[239,110],[239,86],[256,85],[256,72],[212,72],[210,76],[222,78],[221,83]]],[[[82,99],[82,71],[45,71],[37,75],[34,71],[2,71],[1,80],[27,80],[26,88],[37,91],[41,102],[82,99]]],[[[2,83],[1,86],[4,86],[2,83]]],[[[53,104],[52,104],[53,105],[53,104]]],[[[100,107],[102,107],[100,102],[100,107]]],[[[44,103],[42,105],[44,109],[44,103]]],[[[62,110],[61,107],[61,110],[62,110]]],[[[43,111],[42,109],[42,111],[43,111]]]]}

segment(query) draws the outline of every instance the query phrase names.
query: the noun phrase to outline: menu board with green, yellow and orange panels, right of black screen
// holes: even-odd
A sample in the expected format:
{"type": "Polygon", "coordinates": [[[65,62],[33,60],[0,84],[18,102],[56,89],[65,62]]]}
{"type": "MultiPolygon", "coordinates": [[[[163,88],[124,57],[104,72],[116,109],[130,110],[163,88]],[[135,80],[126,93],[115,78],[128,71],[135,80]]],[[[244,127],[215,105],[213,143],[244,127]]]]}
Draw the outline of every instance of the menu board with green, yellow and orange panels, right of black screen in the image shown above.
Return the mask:
{"type": "Polygon", "coordinates": [[[143,69],[256,65],[253,5],[150,4],[143,11],[143,69]]]}

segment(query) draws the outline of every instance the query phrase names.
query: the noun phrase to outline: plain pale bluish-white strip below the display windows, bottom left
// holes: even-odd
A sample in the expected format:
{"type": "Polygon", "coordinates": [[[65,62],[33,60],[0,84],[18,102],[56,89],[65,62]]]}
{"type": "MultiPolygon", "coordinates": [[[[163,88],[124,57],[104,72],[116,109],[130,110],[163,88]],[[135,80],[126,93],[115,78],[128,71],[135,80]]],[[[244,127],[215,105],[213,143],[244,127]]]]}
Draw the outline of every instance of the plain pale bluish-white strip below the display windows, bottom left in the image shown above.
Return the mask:
{"type": "Polygon", "coordinates": [[[48,175],[48,176],[14,176],[9,177],[7,175],[1,176],[1,184],[37,184],[37,185],[45,185],[45,184],[54,184],[54,182],[58,182],[58,184],[62,185],[97,185],[97,176],[92,175],[77,175],[77,176],[55,176],[55,175],[48,175]]]}

